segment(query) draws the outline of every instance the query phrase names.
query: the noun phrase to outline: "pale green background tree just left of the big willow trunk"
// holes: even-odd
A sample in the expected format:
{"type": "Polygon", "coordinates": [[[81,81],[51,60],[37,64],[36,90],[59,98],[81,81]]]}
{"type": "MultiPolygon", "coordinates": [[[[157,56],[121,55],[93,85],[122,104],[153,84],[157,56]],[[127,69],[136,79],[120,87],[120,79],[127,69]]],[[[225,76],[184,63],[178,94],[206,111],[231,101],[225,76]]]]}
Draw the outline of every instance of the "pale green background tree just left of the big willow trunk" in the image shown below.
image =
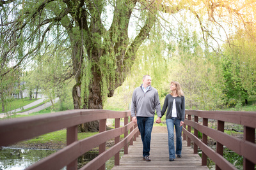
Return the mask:
{"type": "Polygon", "coordinates": [[[60,111],[74,108],[69,102],[74,85],[71,62],[67,48],[49,46],[43,55],[36,57],[36,64],[30,66],[29,80],[35,83],[35,87],[40,85],[41,93],[50,99],[52,107],[56,106],[54,99],[58,97],[60,111]]]}

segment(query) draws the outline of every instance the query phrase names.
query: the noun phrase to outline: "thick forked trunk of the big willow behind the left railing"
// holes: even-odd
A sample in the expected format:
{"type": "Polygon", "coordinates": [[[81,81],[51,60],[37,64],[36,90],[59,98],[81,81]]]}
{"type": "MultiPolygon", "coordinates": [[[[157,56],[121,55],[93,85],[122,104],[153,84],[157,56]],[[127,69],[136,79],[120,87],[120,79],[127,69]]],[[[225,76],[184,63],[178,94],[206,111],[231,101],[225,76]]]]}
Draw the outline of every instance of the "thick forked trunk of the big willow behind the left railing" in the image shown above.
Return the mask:
{"type": "MultiPolygon", "coordinates": [[[[97,3],[100,4],[100,2],[97,3]]],[[[113,96],[114,90],[124,82],[136,58],[136,51],[156,22],[156,17],[152,13],[155,9],[152,8],[152,11],[147,13],[146,22],[140,33],[128,46],[128,25],[136,1],[127,1],[126,3],[131,7],[125,6],[120,10],[123,3],[116,2],[113,23],[108,31],[102,27],[100,21],[100,14],[104,10],[100,5],[98,8],[90,8],[90,13],[93,15],[90,25],[85,20],[84,9],[81,13],[72,15],[76,18],[77,27],[79,27],[79,34],[72,32],[70,36],[73,37],[71,39],[74,46],[72,59],[76,75],[76,85],[72,91],[75,109],[101,110],[103,108],[104,99],[113,96]],[[86,36],[85,40],[84,36],[86,36]]],[[[98,130],[99,122],[97,121],[79,126],[79,131],[98,130]]]]}

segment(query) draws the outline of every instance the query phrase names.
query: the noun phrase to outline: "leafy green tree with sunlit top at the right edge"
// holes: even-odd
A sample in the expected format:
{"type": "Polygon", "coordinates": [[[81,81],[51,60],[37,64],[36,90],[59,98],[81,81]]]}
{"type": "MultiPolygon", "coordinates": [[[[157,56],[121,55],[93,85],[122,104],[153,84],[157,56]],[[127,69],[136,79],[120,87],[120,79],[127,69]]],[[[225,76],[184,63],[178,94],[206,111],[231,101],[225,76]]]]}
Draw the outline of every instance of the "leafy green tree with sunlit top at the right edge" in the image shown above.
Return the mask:
{"type": "Polygon", "coordinates": [[[228,105],[236,105],[255,94],[256,89],[256,39],[255,32],[250,34],[239,30],[223,45],[223,78],[225,80],[225,100],[228,105]]]}

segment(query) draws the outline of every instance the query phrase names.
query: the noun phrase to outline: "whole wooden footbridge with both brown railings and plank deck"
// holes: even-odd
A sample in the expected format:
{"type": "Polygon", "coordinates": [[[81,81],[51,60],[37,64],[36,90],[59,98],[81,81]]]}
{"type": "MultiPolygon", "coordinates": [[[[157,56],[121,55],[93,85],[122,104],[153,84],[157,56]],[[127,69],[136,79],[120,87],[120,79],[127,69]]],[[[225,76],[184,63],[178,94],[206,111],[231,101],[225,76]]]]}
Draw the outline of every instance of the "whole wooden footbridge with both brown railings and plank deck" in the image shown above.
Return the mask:
{"type": "Polygon", "coordinates": [[[67,128],[67,146],[26,169],[61,169],[63,167],[67,167],[67,170],[77,169],[77,158],[96,146],[99,146],[99,156],[81,169],[105,169],[106,161],[113,156],[115,157],[113,169],[207,169],[207,158],[215,162],[216,169],[236,169],[222,156],[224,146],[243,156],[243,169],[255,169],[256,112],[186,110],[182,158],[177,158],[173,162],[168,161],[167,134],[155,134],[154,131],[150,151],[152,161],[142,160],[138,127],[129,122],[129,117],[131,117],[130,111],[70,110],[1,120],[0,146],[12,145],[25,139],[67,128]],[[106,131],[108,118],[115,118],[115,129],[106,131]],[[120,127],[120,118],[124,118],[123,127],[120,127]],[[209,119],[216,120],[218,123],[216,129],[208,127],[209,119]],[[77,140],[77,126],[93,120],[99,120],[100,133],[77,140]],[[225,122],[241,125],[243,139],[226,134],[225,122]],[[198,132],[202,133],[202,140],[198,138],[198,132]],[[122,134],[124,139],[120,141],[122,134]],[[106,141],[113,138],[115,138],[115,145],[106,150],[106,141]],[[208,138],[216,141],[216,150],[207,146],[208,138]],[[193,148],[190,146],[191,141],[193,141],[193,148]],[[120,160],[122,148],[124,148],[124,156],[120,160]],[[202,159],[197,154],[198,148],[202,150],[202,159]]]}

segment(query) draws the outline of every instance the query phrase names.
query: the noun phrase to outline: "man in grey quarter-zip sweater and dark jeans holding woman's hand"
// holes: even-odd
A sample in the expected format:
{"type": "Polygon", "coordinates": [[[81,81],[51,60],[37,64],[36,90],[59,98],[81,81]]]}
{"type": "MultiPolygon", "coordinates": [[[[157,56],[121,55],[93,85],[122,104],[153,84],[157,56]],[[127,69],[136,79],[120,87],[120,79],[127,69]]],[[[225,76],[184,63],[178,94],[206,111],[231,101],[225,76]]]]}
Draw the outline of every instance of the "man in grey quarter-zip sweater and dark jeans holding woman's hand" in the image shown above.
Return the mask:
{"type": "Polygon", "coordinates": [[[151,77],[143,76],[143,84],[137,87],[132,94],[131,115],[132,122],[138,124],[141,140],[143,143],[143,160],[150,161],[151,132],[154,124],[155,110],[157,113],[156,123],[161,123],[161,105],[158,92],[151,87],[151,77]]]}

